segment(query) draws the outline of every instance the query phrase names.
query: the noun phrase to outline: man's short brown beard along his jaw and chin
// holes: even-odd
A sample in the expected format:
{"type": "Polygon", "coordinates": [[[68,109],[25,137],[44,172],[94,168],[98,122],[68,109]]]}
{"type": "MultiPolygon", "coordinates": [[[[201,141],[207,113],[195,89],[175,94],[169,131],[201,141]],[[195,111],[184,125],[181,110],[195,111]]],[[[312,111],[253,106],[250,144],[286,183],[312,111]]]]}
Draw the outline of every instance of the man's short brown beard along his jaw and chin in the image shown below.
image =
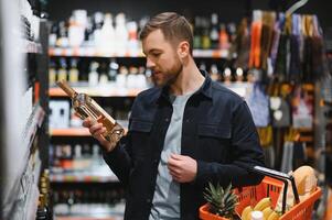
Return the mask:
{"type": "Polygon", "coordinates": [[[170,86],[174,81],[176,81],[182,69],[183,69],[183,65],[180,62],[180,59],[176,57],[175,64],[170,68],[152,69],[152,81],[157,87],[170,86]]]}

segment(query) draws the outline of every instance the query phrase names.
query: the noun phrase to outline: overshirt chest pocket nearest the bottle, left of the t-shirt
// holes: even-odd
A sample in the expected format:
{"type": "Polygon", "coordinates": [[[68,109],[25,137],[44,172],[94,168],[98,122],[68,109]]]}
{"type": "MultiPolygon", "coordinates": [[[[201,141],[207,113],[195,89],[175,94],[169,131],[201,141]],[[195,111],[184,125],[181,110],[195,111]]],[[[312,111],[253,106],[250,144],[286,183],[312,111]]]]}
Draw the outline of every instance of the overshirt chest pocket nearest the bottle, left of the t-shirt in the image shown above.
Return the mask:
{"type": "Polygon", "coordinates": [[[150,134],[152,130],[152,121],[143,119],[132,119],[129,125],[132,146],[132,160],[140,161],[147,156],[150,145],[150,134]]]}

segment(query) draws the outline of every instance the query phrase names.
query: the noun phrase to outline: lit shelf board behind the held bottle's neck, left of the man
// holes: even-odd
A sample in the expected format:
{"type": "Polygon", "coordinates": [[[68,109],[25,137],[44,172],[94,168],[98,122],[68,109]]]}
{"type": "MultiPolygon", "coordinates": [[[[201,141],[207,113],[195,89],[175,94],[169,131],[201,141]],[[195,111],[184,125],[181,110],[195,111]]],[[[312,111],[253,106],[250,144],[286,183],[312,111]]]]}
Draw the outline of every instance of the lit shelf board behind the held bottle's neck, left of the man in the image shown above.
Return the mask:
{"type": "MultiPolygon", "coordinates": [[[[115,87],[74,87],[77,92],[87,94],[90,97],[136,97],[143,89],[124,89],[115,87]]],[[[61,88],[50,88],[50,97],[67,97],[67,95],[61,88]]]]}

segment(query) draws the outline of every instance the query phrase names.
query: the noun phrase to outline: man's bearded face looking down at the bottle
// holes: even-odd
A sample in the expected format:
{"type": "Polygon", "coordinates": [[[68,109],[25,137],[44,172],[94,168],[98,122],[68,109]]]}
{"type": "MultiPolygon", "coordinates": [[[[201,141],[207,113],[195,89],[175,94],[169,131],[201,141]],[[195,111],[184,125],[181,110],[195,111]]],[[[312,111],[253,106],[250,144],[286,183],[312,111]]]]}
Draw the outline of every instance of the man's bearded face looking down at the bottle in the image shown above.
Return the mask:
{"type": "Polygon", "coordinates": [[[182,72],[175,46],[164,38],[160,30],[156,30],[142,41],[142,47],[154,85],[162,87],[174,82],[182,72]]]}

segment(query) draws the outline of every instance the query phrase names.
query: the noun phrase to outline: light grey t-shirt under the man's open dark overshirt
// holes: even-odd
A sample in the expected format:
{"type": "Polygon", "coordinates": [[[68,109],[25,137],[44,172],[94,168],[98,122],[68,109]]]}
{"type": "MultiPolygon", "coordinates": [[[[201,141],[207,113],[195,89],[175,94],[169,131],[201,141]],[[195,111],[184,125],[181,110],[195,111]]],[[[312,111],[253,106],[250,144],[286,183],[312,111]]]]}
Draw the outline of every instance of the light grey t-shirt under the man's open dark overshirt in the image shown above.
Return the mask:
{"type": "Polygon", "coordinates": [[[168,161],[171,154],[181,154],[183,112],[191,95],[170,97],[173,114],[158,165],[150,220],[180,219],[180,185],[172,179],[168,168],[168,161]]]}

